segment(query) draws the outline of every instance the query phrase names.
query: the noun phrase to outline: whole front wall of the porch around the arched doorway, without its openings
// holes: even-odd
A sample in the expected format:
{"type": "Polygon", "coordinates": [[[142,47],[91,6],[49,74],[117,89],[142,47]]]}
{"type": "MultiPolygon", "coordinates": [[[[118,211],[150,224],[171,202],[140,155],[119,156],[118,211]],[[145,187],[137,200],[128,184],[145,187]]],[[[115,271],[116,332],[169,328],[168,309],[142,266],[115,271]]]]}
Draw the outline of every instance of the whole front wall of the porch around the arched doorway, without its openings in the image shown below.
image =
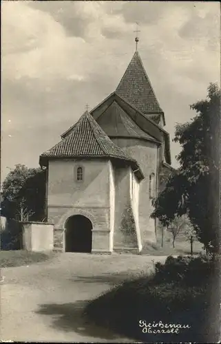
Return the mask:
{"type": "Polygon", "coordinates": [[[54,223],[54,248],[65,249],[65,222],[84,215],[93,225],[92,251],[109,251],[109,162],[52,160],[48,171],[48,220],[54,223]],[[83,167],[83,182],[75,171],[83,167]]]}

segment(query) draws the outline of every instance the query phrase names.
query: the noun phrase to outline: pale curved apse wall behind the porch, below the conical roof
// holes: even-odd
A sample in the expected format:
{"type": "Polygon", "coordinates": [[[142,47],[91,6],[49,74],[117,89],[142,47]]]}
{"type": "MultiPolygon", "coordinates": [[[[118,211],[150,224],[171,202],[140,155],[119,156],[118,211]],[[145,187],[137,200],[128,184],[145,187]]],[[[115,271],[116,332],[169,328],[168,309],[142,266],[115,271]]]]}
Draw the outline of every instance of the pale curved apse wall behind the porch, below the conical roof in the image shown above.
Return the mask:
{"type": "Polygon", "coordinates": [[[112,138],[112,140],[137,160],[145,175],[145,179],[140,182],[140,234],[143,246],[148,243],[156,244],[156,224],[155,220],[150,218],[154,208],[149,197],[149,175],[151,173],[158,174],[158,147],[153,142],[139,139],[112,138]]]}

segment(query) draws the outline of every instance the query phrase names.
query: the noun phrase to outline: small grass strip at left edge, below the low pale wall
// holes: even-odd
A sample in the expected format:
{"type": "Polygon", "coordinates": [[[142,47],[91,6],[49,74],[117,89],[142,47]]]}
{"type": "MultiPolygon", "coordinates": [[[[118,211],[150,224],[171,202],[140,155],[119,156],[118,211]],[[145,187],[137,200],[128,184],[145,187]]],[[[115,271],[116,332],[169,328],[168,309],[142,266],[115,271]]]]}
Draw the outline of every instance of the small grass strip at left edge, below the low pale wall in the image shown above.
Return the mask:
{"type": "Polygon", "coordinates": [[[0,267],[27,266],[54,257],[54,252],[30,252],[26,250],[0,250],[0,267]]]}

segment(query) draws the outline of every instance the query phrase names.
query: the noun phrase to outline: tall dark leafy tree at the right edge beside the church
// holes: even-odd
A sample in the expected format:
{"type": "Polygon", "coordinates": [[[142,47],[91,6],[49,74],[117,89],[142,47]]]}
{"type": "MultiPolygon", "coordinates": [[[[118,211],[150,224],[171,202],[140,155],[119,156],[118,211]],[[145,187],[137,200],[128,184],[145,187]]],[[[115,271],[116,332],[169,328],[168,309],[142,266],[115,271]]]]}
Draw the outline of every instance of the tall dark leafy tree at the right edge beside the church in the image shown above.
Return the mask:
{"type": "Polygon", "coordinates": [[[182,149],[179,169],[160,192],[151,217],[169,226],[176,216],[187,213],[196,235],[210,252],[218,252],[219,227],[219,120],[220,89],[210,84],[205,100],[191,105],[196,116],[176,125],[174,141],[182,149]]]}

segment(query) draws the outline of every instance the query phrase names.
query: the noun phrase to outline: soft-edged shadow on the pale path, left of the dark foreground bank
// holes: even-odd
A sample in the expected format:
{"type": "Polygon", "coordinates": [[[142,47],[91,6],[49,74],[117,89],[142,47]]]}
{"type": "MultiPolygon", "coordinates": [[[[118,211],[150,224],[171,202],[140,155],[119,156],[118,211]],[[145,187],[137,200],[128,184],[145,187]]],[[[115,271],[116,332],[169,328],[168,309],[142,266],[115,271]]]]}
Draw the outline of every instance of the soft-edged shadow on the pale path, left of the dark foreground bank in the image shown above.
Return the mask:
{"type": "Polygon", "coordinates": [[[36,313],[52,316],[52,327],[56,330],[107,340],[118,338],[111,330],[95,325],[87,319],[84,309],[88,302],[79,300],[75,303],[45,303],[39,305],[36,313]]]}

